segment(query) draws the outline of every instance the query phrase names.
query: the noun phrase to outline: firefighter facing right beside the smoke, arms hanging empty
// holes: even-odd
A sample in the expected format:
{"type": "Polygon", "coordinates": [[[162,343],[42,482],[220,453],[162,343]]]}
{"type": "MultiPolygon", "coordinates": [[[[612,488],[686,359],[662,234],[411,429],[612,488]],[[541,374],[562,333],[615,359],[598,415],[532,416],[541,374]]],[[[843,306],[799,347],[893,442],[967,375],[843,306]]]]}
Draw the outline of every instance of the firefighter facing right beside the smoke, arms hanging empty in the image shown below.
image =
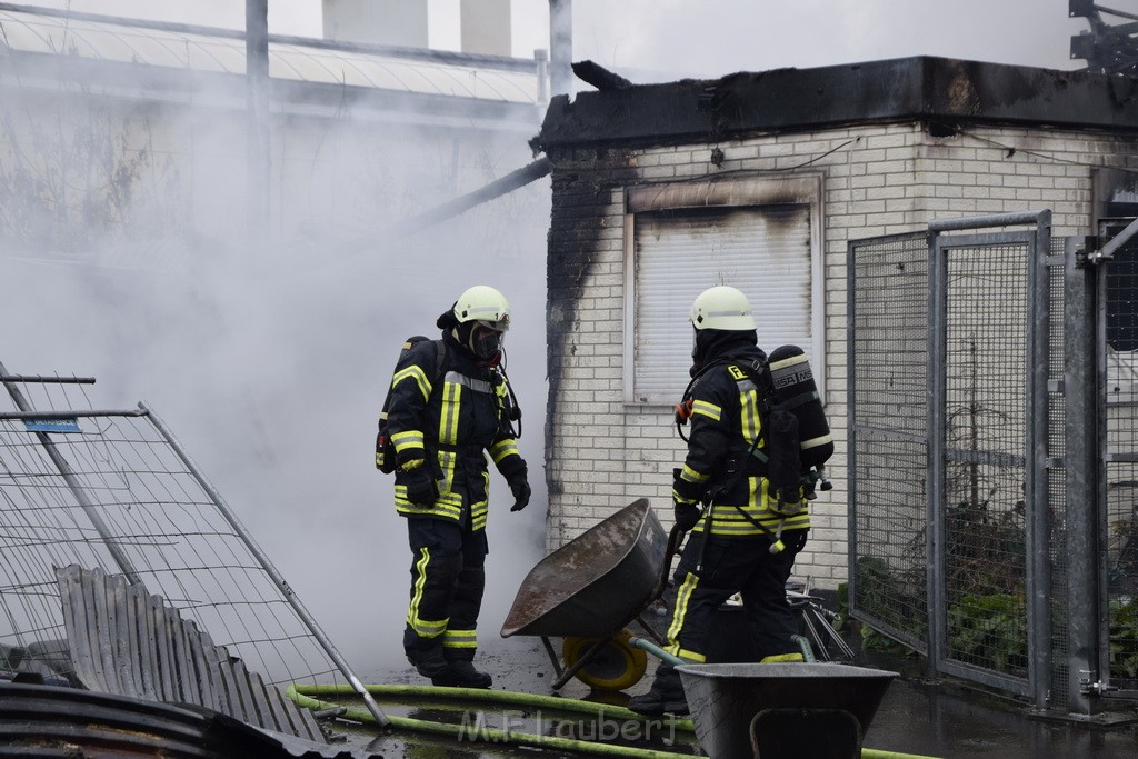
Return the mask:
{"type": "Polygon", "coordinates": [[[509,379],[501,366],[510,305],[476,286],[437,321],[438,343],[404,350],[391,379],[387,424],[395,445],[395,509],[407,520],[413,554],[403,647],[435,685],[489,687],[475,669],[475,630],[485,586],[488,453],[513,493],[529,503],[518,452],[509,379]],[[437,377],[443,369],[443,376],[437,377]]]}

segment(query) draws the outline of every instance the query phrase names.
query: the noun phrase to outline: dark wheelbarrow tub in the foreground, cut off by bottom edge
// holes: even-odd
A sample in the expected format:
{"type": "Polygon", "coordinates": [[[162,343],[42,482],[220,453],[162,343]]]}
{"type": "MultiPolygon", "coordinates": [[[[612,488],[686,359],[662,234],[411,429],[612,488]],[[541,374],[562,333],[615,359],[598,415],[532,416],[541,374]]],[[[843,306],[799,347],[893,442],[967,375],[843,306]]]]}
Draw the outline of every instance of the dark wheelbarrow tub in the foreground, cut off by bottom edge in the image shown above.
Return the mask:
{"type": "Polygon", "coordinates": [[[710,757],[751,757],[751,721],[767,709],[842,710],[864,734],[898,673],[827,662],[678,665],[695,735],[710,757]]]}

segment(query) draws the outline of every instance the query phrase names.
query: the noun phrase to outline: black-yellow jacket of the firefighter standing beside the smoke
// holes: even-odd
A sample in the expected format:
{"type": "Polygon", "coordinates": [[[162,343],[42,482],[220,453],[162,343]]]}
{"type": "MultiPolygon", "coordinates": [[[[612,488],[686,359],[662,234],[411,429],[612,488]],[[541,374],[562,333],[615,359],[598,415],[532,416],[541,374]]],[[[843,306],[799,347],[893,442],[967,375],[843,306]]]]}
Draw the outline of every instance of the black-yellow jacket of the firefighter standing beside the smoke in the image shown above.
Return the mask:
{"type": "Polygon", "coordinates": [[[443,348],[442,376],[436,376],[437,343],[422,340],[403,352],[391,378],[387,424],[399,464],[395,509],[404,517],[448,520],[481,530],[489,493],[486,453],[506,480],[526,475],[509,419],[509,380],[448,333],[443,336],[443,348]],[[405,469],[417,465],[428,467],[438,485],[432,504],[407,500],[405,469]]]}

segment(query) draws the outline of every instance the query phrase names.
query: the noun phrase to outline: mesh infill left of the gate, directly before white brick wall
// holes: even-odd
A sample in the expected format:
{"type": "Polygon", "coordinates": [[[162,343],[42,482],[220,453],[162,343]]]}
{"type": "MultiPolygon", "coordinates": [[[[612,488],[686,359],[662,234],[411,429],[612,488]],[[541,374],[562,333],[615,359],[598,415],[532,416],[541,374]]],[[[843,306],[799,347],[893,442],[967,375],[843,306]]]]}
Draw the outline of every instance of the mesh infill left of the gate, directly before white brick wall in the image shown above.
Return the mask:
{"type": "Polygon", "coordinates": [[[927,238],[851,242],[849,271],[850,610],[923,650],[927,238]]]}

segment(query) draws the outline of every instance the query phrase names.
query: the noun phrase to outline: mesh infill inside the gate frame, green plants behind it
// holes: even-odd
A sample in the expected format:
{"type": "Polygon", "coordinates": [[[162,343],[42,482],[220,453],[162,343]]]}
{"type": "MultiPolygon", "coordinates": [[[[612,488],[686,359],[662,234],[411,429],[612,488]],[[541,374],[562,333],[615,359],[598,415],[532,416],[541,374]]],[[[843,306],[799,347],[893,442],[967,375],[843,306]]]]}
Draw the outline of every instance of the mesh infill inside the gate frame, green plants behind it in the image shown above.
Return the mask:
{"type": "Polygon", "coordinates": [[[945,254],[945,658],[1026,677],[1029,249],[945,254]]]}

